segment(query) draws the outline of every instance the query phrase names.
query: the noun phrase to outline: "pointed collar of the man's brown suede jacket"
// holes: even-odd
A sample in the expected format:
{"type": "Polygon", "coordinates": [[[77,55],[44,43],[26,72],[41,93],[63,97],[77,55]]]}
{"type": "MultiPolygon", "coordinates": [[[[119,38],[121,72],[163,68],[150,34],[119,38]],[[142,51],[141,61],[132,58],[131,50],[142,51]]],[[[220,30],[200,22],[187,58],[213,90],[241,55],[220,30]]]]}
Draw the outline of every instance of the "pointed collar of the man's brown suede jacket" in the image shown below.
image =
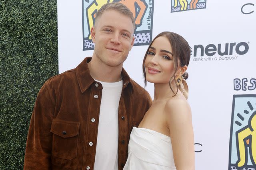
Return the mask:
{"type": "MultiPolygon", "coordinates": [[[[92,57],[86,57],[77,67],[76,67],[76,78],[82,93],[84,93],[95,80],[90,75],[90,70],[88,68],[88,63],[91,61],[92,57]]],[[[123,79],[123,88],[126,88],[128,84],[132,87],[131,78],[127,72],[122,68],[122,79],[123,79]]],[[[132,87],[133,90],[133,87],[132,87]]]]}

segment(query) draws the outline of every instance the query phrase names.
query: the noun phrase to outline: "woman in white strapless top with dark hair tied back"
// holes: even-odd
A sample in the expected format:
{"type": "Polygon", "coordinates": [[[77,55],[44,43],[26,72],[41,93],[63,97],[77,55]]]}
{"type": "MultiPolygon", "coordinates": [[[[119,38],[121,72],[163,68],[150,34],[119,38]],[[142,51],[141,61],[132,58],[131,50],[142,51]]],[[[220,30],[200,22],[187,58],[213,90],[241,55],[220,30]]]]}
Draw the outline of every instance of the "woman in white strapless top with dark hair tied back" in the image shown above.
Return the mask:
{"type": "Polygon", "coordinates": [[[144,81],[154,83],[154,101],[133,127],[124,170],[194,170],[194,134],[187,102],[188,42],[158,34],[143,60],[144,81]]]}

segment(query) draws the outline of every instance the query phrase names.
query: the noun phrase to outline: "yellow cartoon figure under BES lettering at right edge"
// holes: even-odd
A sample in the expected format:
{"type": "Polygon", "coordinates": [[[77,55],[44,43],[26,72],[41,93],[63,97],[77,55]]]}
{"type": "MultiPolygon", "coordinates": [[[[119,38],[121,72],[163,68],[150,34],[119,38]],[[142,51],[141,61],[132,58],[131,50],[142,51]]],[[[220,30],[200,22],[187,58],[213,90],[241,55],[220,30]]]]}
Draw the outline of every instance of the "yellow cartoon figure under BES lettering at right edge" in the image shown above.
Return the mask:
{"type": "Polygon", "coordinates": [[[252,136],[251,140],[247,140],[246,144],[250,144],[251,150],[252,150],[252,158],[254,162],[256,162],[256,114],[252,117],[252,120],[248,124],[248,128],[244,129],[243,131],[239,132],[237,137],[238,137],[238,148],[239,148],[239,156],[240,156],[240,161],[238,162],[237,166],[242,167],[245,164],[246,156],[245,155],[245,150],[246,145],[244,143],[244,139],[246,137],[249,137],[250,135],[252,136]],[[250,129],[252,128],[252,130],[250,129]]]}

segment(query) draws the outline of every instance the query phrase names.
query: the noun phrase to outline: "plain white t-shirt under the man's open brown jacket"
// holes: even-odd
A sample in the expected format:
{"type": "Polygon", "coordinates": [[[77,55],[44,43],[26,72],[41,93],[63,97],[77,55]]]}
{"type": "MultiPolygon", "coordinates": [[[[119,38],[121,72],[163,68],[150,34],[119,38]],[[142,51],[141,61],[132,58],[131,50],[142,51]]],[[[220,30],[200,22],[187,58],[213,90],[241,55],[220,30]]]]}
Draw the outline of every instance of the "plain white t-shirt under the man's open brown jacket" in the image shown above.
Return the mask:
{"type": "Polygon", "coordinates": [[[118,106],[123,81],[100,83],[103,89],[94,170],[118,170],[118,106]]]}

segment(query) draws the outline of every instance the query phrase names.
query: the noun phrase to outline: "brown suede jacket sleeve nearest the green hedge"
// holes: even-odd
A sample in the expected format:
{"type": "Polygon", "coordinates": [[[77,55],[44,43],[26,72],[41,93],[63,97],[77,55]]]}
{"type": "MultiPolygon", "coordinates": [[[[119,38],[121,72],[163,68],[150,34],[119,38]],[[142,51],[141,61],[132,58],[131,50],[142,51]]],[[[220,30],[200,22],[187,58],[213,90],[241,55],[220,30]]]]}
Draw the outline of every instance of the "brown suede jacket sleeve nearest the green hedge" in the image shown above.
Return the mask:
{"type": "Polygon", "coordinates": [[[32,113],[26,143],[24,169],[51,169],[52,133],[56,105],[55,94],[47,84],[40,89],[32,113]]]}

